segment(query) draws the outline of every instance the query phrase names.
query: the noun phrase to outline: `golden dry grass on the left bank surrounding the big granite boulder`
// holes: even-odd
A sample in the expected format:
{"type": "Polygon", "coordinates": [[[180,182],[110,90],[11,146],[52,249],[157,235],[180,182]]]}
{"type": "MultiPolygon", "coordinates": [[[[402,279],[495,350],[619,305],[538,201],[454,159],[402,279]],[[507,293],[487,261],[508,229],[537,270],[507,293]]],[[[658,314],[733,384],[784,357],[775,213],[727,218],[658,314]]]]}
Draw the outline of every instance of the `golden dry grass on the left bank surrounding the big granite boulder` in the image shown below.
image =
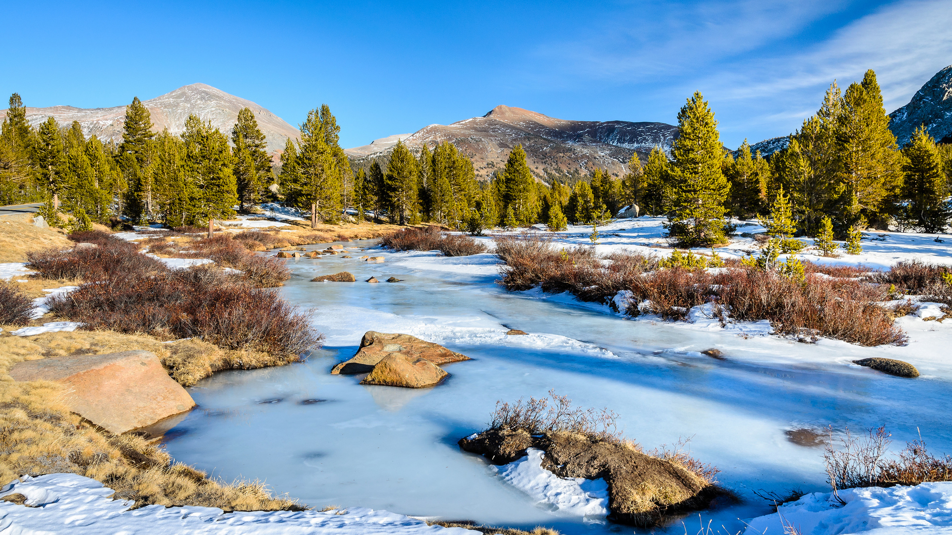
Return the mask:
{"type": "Polygon", "coordinates": [[[195,341],[164,345],[145,336],[111,332],[54,332],[22,338],[0,336],[0,481],[24,475],[72,472],[108,485],[115,498],[136,506],[204,505],[225,510],[293,510],[296,501],[274,498],[258,482],[209,479],[191,466],[173,464],[159,446],[132,435],[92,426],[60,400],[63,387],[45,381],[15,382],[18,362],[57,355],[106,353],[138,347],[160,356],[214,349],[195,341]],[[199,348],[191,347],[199,344],[199,348]],[[184,347],[176,347],[184,345],[184,347]]]}

